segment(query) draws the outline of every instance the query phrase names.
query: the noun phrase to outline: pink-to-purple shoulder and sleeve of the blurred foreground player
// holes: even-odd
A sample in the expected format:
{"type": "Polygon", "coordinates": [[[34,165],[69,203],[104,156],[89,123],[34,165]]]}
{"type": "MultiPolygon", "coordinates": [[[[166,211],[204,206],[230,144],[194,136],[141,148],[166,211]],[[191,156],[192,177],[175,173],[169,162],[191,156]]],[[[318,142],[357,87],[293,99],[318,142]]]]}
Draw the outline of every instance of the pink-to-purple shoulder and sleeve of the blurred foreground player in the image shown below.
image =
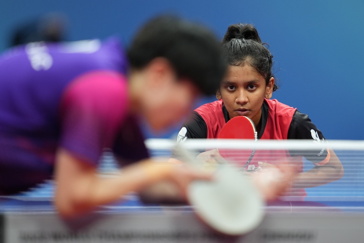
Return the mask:
{"type": "Polygon", "coordinates": [[[114,71],[93,71],[74,79],[60,102],[60,146],[93,163],[112,148],[128,115],[126,79],[114,71]]]}

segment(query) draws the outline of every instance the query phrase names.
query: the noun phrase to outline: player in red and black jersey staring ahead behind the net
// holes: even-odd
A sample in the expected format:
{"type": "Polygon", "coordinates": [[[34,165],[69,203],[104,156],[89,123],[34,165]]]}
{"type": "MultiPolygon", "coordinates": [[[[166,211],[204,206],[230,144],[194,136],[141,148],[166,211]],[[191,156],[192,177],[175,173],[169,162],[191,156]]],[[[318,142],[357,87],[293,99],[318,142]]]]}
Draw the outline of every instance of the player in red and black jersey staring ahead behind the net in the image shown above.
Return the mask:
{"type": "MultiPolygon", "coordinates": [[[[251,24],[230,25],[222,39],[222,47],[229,66],[216,92],[217,101],[193,111],[182,125],[178,141],[217,138],[227,121],[244,115],[254,122],[258,139],[312,139],[322,144],[322,150],[304,155],[315,166],[302,172],[301,163],[287,195],[306,196],[304,188],[340,179],[343,166],[333,150],[328,149],[323,134],[308,115],[272,99],[273,92],[278,88],[272,73],[273,56],[262,43],[256,28],[251,24]]],[[[300,152],[290,151],[287,158],[301,155],[300,152]]],[[[203,152],[198,158],[223,161],[217,150],[203,152]]],[[[170,162],[180,161],[172,156],[170,162]]],[[[245,170],[256,172],[275,166],[257,152],[245,170]]]]}

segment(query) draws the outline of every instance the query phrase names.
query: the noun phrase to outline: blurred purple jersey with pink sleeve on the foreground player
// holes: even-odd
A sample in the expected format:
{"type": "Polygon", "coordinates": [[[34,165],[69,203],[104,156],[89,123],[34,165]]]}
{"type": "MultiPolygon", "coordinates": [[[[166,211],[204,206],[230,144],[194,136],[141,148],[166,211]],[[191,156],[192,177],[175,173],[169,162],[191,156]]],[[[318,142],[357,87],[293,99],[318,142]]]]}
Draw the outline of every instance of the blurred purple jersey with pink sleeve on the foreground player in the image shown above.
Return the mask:
{"type": "Polygon", "coordinates": [[[0,194],[49,179],[58,147],[94,165],[103,148],[146,157],[126,70],[113,39],[29,43],[0,56],[0,194]]]}

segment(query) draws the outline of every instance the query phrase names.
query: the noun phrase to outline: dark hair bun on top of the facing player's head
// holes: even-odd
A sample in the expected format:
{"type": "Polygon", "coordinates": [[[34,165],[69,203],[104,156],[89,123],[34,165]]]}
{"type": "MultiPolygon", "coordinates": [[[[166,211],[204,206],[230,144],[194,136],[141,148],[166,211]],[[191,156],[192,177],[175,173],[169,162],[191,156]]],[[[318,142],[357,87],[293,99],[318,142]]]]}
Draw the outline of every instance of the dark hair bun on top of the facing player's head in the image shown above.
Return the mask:
{"type": "Polygon", "coordinates": [[[232,39],[251,39],[262,43],[258,35],[257,29],[252,24],[232,24],[227,28],[223,42],[228,42],[232,39]]]}

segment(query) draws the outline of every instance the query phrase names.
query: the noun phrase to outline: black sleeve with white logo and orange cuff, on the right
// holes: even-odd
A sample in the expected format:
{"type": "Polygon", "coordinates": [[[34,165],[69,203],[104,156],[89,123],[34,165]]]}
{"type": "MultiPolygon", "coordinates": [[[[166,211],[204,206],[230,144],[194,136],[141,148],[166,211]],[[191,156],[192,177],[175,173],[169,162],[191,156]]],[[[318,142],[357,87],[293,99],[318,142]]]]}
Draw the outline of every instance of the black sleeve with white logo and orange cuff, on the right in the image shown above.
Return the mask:
{"type": "Polygon", "coordinates": [[[302,114],[298,110],[293,114],[287,139],[306,139],[322,144],[322,148],[317,149],[317,151],[290,150],[289,153],[291,156],[303,156],[315,165],[320,165],[320,162],[330,156],[327,151],[327,142],[321,131],[316,128],[308,115],[302,114]]]}

